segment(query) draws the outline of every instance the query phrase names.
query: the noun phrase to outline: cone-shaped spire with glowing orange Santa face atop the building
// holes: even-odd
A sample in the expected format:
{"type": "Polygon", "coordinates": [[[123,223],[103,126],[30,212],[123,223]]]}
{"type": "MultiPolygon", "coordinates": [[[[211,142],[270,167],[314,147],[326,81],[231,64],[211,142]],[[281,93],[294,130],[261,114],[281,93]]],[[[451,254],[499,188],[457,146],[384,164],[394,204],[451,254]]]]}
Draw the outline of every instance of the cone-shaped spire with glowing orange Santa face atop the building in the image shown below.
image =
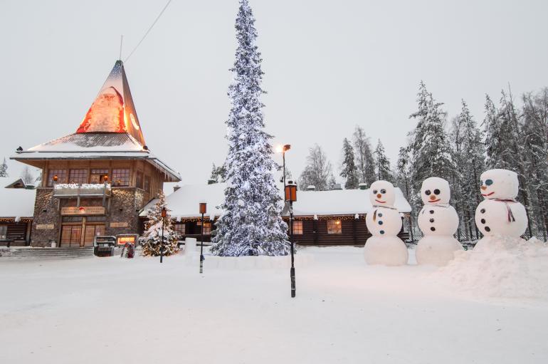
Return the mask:
{"type": "Polygon", "coordinates": [[[127,132],[144,145],[122,61],[116,61],[76,132],[127,132]]]}

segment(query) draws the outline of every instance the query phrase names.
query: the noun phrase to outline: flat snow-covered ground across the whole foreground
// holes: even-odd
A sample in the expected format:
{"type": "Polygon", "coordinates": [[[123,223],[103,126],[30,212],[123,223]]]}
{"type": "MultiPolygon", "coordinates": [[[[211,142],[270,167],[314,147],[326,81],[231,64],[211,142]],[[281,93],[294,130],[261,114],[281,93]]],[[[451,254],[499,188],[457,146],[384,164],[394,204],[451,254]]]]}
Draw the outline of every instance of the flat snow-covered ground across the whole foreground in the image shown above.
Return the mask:
{"type": "Polygon", "coordinates": [[[300,254],[297,298],[280,264],[206,257],[200,275],[184,256],[0,261],[0,363],[548,363],[542,295],[463,291],[454,264],[300,254]]]}

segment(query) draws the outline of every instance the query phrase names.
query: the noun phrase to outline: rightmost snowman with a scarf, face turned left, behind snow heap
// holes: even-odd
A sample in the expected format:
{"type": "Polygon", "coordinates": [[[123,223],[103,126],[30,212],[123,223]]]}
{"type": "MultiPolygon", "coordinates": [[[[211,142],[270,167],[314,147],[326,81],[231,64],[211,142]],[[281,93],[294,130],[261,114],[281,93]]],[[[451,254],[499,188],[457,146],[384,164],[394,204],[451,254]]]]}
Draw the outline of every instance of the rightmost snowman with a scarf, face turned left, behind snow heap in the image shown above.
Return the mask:
{"type": "Polygon", "coordinates": [[[480,179],[484,200],[475,209],[475,224],[484,237],[475,250],[482,249],[481,246],[488,244],[494,235],[519,238],[525,233],[528,222],[525,207],[515,200],[520,187],[516,172],[488,170],[480,179]]]}

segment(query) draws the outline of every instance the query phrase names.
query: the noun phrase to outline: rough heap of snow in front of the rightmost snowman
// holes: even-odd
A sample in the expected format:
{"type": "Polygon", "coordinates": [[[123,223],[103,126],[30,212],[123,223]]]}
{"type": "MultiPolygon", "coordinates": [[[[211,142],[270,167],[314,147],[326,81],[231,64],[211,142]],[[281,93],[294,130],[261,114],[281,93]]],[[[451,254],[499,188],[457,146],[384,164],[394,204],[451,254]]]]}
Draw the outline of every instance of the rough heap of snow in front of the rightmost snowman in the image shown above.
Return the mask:
{"type": "Polygon", "coordinates": [[[482,249],[455,252],[434,276],[473,296],[548,301],[548,244],[535,238],[485,239],[482,249]]]}

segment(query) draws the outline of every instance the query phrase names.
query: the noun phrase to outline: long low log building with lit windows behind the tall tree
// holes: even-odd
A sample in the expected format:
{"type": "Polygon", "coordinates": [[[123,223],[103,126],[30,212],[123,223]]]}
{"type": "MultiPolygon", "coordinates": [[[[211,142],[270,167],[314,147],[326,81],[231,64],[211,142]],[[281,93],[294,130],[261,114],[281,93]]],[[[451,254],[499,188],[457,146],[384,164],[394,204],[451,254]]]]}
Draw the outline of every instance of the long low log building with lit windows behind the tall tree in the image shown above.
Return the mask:
{"type": "MultiPolygon", "coordinates": [[[[214,222],[221,214],[217,207],[224,198],[225,183],[185,185],[166,197],[174,227],[180,239],[200,236],[201,216],[199,203],[206,202],[208,213],[204,222],[204,241],[211,241],[214,222]]],[[[280,193],[282,187],[280,186],[280,193]]],[[[333,191],[298,191],[293,204],[295,216],[294,237],[300,245],[358,245],[363,246],[371,234],[365,224],[366,214],[372,210],[368,189],[339,189],[333,191]]],[[[147,212],[154,207],[150,202],[141,212],[142,224],[147,212]]],[[[396,208],[402,218],[411,212],[401,190],[396,188],[396,208]]],[[[288,207],[283,218],[289,222],[288,207]]],[[[402,239],[407,233],[400,232],[402,239]]]]}

